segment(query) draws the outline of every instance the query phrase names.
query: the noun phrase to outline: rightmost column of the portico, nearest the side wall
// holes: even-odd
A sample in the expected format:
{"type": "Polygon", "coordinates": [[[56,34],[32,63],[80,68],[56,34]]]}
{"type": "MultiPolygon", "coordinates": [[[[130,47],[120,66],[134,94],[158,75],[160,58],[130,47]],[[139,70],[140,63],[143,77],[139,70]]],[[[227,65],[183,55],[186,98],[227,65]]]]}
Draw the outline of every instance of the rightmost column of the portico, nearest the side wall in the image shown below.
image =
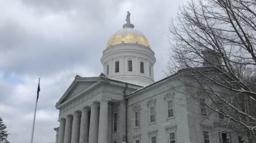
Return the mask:
{"type": "Polygon", "coordinates": [[[98,125],[98,143],[107,143],[107,111],[109,100],[100,100],[100,122],[98,125]]]}

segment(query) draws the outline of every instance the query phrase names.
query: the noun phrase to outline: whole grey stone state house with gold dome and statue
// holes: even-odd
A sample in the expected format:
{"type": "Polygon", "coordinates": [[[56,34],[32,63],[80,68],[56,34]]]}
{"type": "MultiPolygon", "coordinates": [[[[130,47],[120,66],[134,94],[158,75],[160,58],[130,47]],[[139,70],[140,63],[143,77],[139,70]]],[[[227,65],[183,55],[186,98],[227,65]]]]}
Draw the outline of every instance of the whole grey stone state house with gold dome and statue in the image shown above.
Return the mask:
{"type": "Polygon", "coordinates": [[[234,128],[213,126],[218,114],[205,117],[204,104],[188,102],[176,73],[154,81],[154,51],[127,24],[107,41],[99,77],[75,76],[61,96],[57,143],[240,143],[234,128]],[[173,90],[173,86],[176,90],[173,90]],[[203,119],[202,119],[203,118],[203,119]],[[219,131],[219,132],[217,132],[219,131]],[[217,132],[217,133],[213,133],[217,132]]]}

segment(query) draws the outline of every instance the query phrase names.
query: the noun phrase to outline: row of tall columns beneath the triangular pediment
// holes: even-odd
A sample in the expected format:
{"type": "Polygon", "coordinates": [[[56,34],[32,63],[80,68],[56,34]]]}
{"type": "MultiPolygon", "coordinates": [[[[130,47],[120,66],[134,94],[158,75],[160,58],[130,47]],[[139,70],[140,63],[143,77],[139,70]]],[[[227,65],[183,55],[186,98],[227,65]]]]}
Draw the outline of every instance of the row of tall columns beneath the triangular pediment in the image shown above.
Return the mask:
{"type": "Polygon", "coordinates": [[[110,100],[100,99],[89,107],[84,107],[66,118],[61,118],[59,129],[61,135],[58,143],[106,143],[107,112],[110,100]]]}

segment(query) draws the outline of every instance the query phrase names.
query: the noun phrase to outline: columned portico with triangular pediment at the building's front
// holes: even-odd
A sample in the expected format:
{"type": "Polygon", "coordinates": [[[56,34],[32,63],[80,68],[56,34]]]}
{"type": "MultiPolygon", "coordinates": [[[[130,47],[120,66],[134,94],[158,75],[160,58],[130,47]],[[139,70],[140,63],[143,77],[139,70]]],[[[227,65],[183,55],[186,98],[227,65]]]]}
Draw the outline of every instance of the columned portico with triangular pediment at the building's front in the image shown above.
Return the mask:
{"type": "Polygon", "coordinates": [[[107,143],[112,142],[113,136],[121,140],[125,126],[118,127],[122,135],[114,135],[115,132],[113,136],[109,136],[109,132],[113,130],[112,121],[109,121],[113,116],[113,105],[122,108],[122,113],[118,113],[120,117],[125,116],[124,89],[127,88],[127,92],[131,93],[140,87],[105,77],[77,76],[56,104],[56,108],[60,109],[57,142],[107,143]]]}

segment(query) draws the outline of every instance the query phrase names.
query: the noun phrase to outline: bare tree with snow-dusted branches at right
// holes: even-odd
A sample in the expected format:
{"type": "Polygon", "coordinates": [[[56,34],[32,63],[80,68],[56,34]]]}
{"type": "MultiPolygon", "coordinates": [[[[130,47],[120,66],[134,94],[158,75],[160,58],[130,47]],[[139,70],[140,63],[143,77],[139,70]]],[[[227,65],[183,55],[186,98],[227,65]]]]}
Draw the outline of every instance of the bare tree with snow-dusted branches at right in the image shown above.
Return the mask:
{"type": "Polygon", "coordinates": [[[168,72],[181,73],[185,93],[226,117],[256,142],[256,1],[191,0],[170,22],[168,72]],[[217,91],[221,89],[221,91],[217,91]]]}

